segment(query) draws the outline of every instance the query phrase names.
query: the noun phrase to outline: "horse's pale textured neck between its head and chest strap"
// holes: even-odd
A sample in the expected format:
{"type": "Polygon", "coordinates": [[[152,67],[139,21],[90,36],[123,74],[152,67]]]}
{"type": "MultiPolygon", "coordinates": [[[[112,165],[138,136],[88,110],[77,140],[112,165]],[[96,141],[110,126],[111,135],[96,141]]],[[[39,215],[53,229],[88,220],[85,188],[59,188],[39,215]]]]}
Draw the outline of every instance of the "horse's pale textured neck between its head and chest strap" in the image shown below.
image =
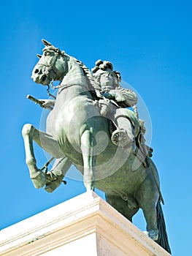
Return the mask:
{"type": "Polygon", "coordinates": [[[69,61],[67,62],[67,73],[64,76],[64,79],[61,82],[61,85],[74,85],[78,84],[80,86],[86,86],[86,78],[82,72],[82,69],[79,64],[75,61],[75,59],[69,56],[69,61]]]}

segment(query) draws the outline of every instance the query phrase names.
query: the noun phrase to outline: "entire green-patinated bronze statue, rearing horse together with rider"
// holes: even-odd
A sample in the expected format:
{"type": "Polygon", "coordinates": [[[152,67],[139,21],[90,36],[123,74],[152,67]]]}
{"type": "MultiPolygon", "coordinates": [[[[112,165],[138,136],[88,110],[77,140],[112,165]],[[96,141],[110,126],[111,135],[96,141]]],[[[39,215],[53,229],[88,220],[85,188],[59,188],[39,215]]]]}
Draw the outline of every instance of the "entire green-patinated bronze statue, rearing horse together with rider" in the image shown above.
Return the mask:
{"type": "Polygon", "coordinates": [[[43,55],[32,78],[43,86],[52,80],[60,84],[55,102],[37,102],[51,110],[46,132],[31,124],[23,127],[26,164],[34,187],[53,192],[73,164],[82,173],[86,189],[105,192],[107,202],[130,221],[142,208],[150,238],[170,252],[158,171],[142,146],[143,127],[137,113],[126,108],[137,102],[136,94],[118,86],[120,75],[112,71],[109,61],[97,62],[91,73],[81,61],[43,42],[43,55]],[[102,70],[116,79],[116,87],[102,88],[102,70]],[[52,171],[38,169],[33,140],[55,157],[52,171]]]}

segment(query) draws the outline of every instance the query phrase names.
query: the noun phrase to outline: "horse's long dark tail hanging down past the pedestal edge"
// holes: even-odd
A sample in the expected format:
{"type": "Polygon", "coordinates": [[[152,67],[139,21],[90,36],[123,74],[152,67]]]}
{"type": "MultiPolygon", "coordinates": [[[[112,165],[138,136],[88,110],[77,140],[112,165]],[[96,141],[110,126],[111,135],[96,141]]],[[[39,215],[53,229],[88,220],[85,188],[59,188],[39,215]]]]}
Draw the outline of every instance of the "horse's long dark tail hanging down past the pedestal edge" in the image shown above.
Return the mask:
{"type": "Polygon", "coordinates": [[[157,206],[157,225],[158,225],[158,241],[156,241],[161,247],[163,247],[166,252],[171,254],[171,249],[169,246],[168,236],[166,233],[166,225],[164,220],[164,213],[161,207],[161,201],[158,200],[157,206]]]}

